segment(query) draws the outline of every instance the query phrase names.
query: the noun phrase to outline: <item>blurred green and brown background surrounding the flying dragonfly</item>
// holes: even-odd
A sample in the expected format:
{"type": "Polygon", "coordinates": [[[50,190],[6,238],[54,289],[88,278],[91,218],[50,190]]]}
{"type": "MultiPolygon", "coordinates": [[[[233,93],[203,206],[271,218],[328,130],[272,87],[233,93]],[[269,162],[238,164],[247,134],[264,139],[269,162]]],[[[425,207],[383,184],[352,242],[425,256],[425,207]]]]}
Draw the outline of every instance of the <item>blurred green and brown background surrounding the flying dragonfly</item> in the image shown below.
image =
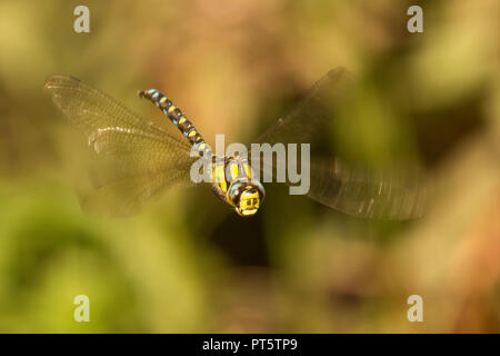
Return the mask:
{"type": "MultiPolygon", "coordinates": [[[[500,4],[436,1],[0,2],[0,332],[500,332],[500,4]],[[90,9],[90,33],[73,9],[90,9]],[[423,33],[407,9],[423,9],[423,33]],[[331,68],[362,98],[341,145],[412,151],[412,221],[348,217],[270,187],[253,219],[176,188],[123,219],[81,212],[87,140],[43,93],[72,75],[209,142],[251,141],[331,68]],[[90,323],[73,298],[90,298],[90,323]],[[423,298],[409,323],[407,298],[423,298]]],[[[178,135],[178,134],[177,134],[178,135]]]]}

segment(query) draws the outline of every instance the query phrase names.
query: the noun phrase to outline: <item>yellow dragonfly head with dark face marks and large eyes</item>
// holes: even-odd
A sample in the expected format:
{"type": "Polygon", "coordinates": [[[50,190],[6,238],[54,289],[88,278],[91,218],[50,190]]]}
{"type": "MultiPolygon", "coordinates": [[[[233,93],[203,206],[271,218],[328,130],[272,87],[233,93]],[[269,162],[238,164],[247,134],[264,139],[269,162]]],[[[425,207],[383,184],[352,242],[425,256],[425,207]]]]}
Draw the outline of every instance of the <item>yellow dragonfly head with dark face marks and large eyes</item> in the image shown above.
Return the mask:
{"type": "Polygon", "coordinates": [[[233,181],[229,186],[226,199],[234,207],[239,216],[252,216],[259,210],[266,196],[260,181],[233,181]]]}

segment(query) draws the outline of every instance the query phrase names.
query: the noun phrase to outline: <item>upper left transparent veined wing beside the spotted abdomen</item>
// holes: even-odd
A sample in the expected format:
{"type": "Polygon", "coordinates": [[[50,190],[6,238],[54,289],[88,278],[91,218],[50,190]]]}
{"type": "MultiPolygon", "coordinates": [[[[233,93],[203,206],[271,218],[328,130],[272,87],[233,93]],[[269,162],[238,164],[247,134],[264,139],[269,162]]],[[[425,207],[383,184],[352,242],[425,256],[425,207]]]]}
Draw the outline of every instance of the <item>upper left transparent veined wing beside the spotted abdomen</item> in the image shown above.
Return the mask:
{"type": "Polygon", "coordinates": [[[70,122],[84,132],[96,152],[114,157],[128,169],[160,169],[179,157],[189,157],[188,142],[79,79],[53,76],[44,89],[70,122]]]}

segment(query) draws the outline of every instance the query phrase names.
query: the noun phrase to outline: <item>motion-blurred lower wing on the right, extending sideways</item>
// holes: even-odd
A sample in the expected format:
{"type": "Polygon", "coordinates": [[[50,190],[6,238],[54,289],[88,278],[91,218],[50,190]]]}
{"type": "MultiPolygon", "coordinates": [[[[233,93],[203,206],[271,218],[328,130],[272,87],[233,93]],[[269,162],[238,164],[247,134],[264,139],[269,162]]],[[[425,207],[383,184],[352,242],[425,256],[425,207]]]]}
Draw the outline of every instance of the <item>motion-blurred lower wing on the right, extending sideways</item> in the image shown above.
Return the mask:
{"type": "Polygon", "coordinates": [[[313,158],[310,174],[308,196],[344,214],[379,219],[422,214],[426,189],[416,170],[354,168],[338,158],[313,158]]]}

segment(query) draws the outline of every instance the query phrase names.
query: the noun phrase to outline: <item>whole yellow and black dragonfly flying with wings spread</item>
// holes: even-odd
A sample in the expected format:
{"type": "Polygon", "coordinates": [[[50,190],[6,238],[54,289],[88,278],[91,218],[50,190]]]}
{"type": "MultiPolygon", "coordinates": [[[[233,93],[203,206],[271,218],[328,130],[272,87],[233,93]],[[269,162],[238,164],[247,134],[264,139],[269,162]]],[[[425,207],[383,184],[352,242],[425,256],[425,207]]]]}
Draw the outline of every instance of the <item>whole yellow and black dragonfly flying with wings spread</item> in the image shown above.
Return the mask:
{"type": "MultiPolygon", "coordinates": [[[[341,100],[351,81],[352,76],[344,68],[330,70],[257,142],[313,145],[322,128],[334,119],[330,103],[341,100]]],[[[167,188],[194,185],[190,169],[198,158],[190,154],[192,150],[208,159],[210,186],[217,198],[242,217],[260,210],[266,189],[254,176],[257,170],[263,172],[264,165],[252,165],[250,158],[241,156],[217,157],[194,125],[159,90],[141,90],[138,95],[152,101],[183,137],[172,135],[74,77],[52,76],[47,79],[44,90],[84,134],[93,151],[119,167],[112,178],[84,197],[86,210],[103,207],[111,215],[131,215],[167,188]]],[[[409,176],[349,166],[337,156],[312,156],[307,196],[356,217],[411,219],[422,214],[424,188],[409,176]]]]}

